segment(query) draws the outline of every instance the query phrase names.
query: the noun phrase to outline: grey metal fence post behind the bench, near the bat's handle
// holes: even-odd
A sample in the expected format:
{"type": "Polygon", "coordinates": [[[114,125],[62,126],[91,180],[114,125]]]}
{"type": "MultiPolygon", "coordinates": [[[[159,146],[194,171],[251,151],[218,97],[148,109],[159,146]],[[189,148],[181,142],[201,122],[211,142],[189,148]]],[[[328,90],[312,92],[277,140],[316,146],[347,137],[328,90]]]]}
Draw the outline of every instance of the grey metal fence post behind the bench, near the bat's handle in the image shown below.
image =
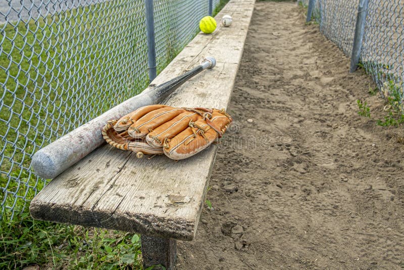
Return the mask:
{"type": "Polygon", "coordinates": [[[153,0],[144,0],[146,9],[146,31],[147,31],[147,57],[148,57],[148,77],[153,81],[156,76],[156,42],[155,42],[155,20],[153,10],[153,0]]]}

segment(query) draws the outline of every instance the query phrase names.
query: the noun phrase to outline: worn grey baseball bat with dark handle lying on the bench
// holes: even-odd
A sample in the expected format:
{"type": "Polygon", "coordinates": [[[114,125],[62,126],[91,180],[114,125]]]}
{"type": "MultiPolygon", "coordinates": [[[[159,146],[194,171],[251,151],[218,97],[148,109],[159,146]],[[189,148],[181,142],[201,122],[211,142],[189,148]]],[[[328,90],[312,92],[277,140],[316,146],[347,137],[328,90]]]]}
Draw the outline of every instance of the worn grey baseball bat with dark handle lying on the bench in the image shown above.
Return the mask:
{"type": "Polygon", "coordinates": [[[153,88],[146,88],[139,95],[126,100],[40,149],[32,156],[31,164],[35,173],[45,179],[55,178],[104,143],[101,130],[107,121],[119,119],[137,108],[162,102],[184,82],[215,65],[215,58],[207,57],[200,65],[184,74],[153,88]]]}

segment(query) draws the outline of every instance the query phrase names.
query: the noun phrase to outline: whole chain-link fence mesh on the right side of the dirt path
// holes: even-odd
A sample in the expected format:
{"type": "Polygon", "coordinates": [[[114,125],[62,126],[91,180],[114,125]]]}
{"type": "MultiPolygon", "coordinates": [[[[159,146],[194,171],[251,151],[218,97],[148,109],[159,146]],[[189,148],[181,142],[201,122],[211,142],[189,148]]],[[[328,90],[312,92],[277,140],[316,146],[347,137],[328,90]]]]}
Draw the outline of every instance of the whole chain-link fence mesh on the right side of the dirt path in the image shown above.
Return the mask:
{"type": "MultiPolygon", "coordinates": [[[[301,1],[304,6],[309,0],[301,1]]],[[[359,0],[315,0],[312,19],[320,31],[351,56],[359,0]]],[[[404,112],[404,0],[368,0],[360,65],[384,97],[393,97],[404,112]]]]}

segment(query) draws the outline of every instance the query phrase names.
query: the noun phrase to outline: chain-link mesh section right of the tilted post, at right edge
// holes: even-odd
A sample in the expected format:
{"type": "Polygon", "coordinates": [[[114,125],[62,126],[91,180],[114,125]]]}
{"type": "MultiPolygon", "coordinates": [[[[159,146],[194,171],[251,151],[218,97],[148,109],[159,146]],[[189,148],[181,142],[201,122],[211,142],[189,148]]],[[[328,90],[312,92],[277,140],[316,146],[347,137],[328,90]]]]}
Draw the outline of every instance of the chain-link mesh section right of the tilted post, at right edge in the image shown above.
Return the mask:
{"type": "Polygon", "coordinates": [[[404,1],[370,1],[361,53],[365,70],[372,75],[383,96],[399,96],[401,101],[404,81],[403,21],[404,1]]]}

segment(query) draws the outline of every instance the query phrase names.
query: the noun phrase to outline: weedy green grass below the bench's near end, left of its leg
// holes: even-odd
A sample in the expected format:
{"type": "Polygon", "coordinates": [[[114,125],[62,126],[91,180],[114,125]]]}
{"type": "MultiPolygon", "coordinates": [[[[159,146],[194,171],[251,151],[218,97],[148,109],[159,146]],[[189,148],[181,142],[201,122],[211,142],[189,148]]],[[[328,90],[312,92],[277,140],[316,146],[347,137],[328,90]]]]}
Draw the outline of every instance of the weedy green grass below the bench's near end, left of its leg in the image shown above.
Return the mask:
{"type": "Polygon", "coordinates": [[[33,220],[0,222],[0,269],[141,269],[139,236],[33,220]]]}

